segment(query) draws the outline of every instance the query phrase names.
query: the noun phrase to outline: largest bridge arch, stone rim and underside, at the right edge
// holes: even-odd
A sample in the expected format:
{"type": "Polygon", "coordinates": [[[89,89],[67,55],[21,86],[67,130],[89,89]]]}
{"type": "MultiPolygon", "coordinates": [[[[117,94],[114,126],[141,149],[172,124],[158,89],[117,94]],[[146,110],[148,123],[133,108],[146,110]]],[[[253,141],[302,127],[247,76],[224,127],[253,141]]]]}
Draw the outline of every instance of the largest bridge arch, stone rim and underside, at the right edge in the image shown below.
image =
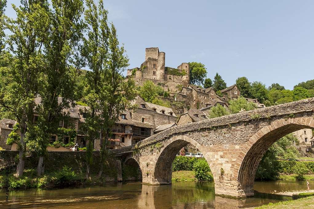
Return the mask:
{"type": "Polygon", "coordinates": [[[247,152],[238,172],[241,190],[246,196],[254,195],[253,185],[257,166],[268,148],[281,137],[304,128],[314,128],[314,120],[310,117],[279,119],[257,131],[246,143],[247,152]]]}

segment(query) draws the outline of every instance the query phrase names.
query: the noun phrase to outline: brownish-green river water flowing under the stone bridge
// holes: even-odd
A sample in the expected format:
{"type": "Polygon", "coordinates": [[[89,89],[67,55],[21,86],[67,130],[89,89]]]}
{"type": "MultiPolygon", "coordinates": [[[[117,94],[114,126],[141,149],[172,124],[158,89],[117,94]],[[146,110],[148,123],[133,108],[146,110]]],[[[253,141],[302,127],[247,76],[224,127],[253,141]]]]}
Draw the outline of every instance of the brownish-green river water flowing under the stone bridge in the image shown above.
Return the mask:
{"type": "MultiPolygon", "coordinates": [[[[314,181],[310,185],[314,185],[314,181]]],[[[274,190],[306,189],[306,182],[255,182],[254,197],[235,200],[215,196],[214,182],[173,182],[172,185],[159,186],[127,182],[106,186],[10,191],[8,202],[5,201],[5,191],[0,190],[0,208],[232,209],[292,199],[271,194],[274,190]]]]}

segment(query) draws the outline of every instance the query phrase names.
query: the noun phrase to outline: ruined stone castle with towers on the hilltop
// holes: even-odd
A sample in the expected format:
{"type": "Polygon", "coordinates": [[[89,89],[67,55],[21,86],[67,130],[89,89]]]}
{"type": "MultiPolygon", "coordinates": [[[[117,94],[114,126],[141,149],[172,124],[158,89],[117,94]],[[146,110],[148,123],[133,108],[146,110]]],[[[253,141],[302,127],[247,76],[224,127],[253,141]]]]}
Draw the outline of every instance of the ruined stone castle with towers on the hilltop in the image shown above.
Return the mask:
{"type": "Polygon", "coordinates": [[[177,68],[165,67],[165,52],[158,47],[145,49],[145,61],[140,67],[127,70],[127,78],[134,76],[137,84],[151,80],[158,83],[166,91],[176,92],[179,86],[190,83],[189,63],[183,62],[177,68]]]}

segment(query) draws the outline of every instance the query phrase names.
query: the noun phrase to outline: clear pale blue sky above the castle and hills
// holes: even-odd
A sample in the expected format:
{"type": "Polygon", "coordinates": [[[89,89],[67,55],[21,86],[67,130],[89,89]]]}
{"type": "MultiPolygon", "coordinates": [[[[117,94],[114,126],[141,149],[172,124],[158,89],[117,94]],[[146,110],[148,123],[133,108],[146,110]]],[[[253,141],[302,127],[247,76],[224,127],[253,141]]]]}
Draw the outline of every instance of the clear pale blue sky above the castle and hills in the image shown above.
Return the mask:
{"type": "MultiPolygon", "coordinates": [[[[6,14],[14,18],[8,0],[6,14]]],[[[314,79],[314,1],[104,0],[130,66],[145,48],[165,52],[165,66],[201,62],[228,86],[238,77],[286,89],[314,79]]]]}

